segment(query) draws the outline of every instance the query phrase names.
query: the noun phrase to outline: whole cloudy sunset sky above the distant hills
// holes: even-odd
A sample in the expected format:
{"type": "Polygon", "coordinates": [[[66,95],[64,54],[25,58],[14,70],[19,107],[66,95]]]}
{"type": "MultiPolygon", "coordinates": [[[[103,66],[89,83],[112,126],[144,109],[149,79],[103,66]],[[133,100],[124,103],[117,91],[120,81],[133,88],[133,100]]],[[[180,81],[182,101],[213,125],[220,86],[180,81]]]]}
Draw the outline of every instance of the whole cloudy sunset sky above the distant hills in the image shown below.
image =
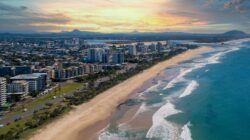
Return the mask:
{"type": "Polygon", "coordinates": [[[250,0],[0,0],[0,32],[250,33],[250,0]]]}

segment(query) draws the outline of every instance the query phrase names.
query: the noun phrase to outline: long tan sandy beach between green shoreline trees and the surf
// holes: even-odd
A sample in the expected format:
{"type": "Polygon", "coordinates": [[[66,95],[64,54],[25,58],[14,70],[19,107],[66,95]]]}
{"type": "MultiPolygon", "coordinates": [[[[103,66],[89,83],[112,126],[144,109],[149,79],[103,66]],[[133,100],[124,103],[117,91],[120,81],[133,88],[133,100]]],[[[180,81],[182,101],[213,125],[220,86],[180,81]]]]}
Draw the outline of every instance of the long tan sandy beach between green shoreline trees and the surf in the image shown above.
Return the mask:
{"type": "Polygon", "coordinates": [[[143,83],[169,66],[173,66],[178,62],[191,59],[192,57],[209,51],[210,48],[200,47],[198,49],[189,50],[179,54],[169,60],[156,64],[155,66],[144,70],[128,80],[104,91],[88,103],[77,106],[75,109],[64,115],[62,118],[48,124],[38,130],[30,140],[89,140],[92,138],[84,136],[82,130],[107,120],[115,108],[124,101],[133,91],[138,89],[143,83]]]}

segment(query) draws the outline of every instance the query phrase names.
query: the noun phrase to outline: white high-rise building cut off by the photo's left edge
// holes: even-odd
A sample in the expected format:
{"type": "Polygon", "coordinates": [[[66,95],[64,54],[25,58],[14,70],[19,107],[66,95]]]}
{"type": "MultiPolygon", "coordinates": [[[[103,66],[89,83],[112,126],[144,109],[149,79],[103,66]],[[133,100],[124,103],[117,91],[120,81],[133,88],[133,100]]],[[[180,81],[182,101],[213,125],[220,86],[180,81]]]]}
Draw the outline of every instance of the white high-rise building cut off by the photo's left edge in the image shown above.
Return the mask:
{"type": "Polygon", "coordinates": [[[7,82],[6,78],[0,77],[0,106],[6,104],[7,82]]]}

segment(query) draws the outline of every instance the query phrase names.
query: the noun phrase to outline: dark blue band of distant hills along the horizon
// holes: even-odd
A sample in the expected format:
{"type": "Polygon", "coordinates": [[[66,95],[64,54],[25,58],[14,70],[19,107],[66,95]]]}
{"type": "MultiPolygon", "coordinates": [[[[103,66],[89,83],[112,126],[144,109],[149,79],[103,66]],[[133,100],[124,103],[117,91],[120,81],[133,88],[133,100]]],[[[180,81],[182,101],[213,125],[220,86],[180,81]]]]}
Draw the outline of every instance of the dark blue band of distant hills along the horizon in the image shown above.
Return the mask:
{"type": "Polygon", "coordinates": [[[0,38],[69,38],[79,37],[82,39],[114,39],[134,41],[159,41],[159,40],[196,40],[198,42],[223,42],[233,39],[250,37],[245,32],[232,30],[222,34],[197,34],[186,32],[120,32],[100,33],[90,31],[62,31],[57,33],[30,32],[30,33],[0,33],[0,38]]]}

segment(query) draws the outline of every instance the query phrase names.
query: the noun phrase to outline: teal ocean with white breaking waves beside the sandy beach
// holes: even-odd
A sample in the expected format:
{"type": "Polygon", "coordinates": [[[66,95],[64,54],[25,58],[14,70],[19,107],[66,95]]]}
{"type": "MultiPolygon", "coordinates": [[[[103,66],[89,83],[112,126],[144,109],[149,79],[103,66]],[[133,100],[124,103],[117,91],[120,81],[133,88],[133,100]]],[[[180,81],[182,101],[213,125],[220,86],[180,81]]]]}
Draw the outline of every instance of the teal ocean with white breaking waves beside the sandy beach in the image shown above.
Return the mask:
{"type": "Polygon", "coordinates": [[[99,139],[250,139],[250,40],[199,45],[213,50],[147,81],[99,139]],[[125,115],[131,108],[138,109],[125,115]]]}

